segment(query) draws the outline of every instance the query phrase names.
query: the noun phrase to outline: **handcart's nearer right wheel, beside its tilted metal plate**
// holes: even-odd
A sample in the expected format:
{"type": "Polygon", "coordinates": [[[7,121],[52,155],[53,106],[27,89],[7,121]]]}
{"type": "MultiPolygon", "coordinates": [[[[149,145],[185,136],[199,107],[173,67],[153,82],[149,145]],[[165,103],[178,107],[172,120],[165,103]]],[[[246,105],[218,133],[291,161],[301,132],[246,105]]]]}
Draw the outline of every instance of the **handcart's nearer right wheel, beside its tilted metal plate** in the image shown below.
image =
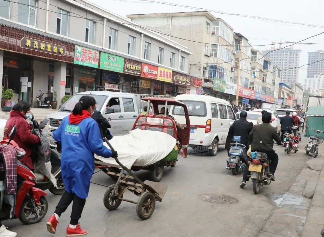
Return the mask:
{"type": "Polygon", "coordinates": [[[136,214],[142,220],[149,219],[155,209],[155,198],[153,193],[146,192],[137,201],[136,214]]]}

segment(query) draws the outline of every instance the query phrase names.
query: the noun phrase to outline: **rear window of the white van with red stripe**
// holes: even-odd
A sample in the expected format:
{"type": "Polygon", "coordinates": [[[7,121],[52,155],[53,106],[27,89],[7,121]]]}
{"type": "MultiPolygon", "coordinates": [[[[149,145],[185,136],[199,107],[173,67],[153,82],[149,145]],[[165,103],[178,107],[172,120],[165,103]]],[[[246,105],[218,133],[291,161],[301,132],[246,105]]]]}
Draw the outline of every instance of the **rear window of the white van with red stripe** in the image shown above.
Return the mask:
{"type": "MultiPolygon", "coordinates": [[[[181,100],[180,100],[181,101],[181,100]]],[[[197,116],[197,117],[206,117],[207,116],[207,110],[206,110],[206,103],[202,101],[190,101],[185,100],[181,101],[183,102],[189,112],[189,116],[197,116]]],[[[172,110],[173,115],[184,115],[184,109],[182,106],[174,106],[172,110]]]]}

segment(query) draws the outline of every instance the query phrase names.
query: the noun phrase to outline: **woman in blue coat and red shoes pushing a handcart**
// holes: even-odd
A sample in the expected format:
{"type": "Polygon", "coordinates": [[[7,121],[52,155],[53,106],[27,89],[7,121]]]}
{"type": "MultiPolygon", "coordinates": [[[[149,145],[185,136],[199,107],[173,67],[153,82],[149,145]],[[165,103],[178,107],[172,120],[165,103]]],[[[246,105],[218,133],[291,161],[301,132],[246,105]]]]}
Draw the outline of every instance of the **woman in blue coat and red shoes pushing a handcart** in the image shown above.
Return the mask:
{"type": "Polygon", "coordinates": [[[96,101],[91,96],[82,96],[73,112],[63,118],[57,130],[53,131],[55,141],[62,144],[61,169],[65,193],[50,217],[47,230],[55,234],[58,219],[73,201],[71,221],[66,236],[80,236],[88,232],[80,223],[83,207],[89,193],[90,179],[94,173],[94,153],[102,157],[117,157],[102,144],[97,122],[91,118],[96,101]]]}

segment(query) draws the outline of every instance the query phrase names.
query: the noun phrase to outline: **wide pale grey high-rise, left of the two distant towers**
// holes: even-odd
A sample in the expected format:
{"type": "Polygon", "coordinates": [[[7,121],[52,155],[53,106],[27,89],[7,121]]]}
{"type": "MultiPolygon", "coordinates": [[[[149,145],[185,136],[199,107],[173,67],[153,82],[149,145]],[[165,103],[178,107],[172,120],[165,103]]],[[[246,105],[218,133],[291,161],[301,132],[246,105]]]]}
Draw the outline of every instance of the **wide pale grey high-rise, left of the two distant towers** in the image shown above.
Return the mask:
{"type": "Polygon", "coordinates": [[[297,82],[299,76],[299,61],[301,50],[289,48],[272,49],[262,51],[265,58],[270,59],[273,64],[281,70],[281,82],[297,82]]]}

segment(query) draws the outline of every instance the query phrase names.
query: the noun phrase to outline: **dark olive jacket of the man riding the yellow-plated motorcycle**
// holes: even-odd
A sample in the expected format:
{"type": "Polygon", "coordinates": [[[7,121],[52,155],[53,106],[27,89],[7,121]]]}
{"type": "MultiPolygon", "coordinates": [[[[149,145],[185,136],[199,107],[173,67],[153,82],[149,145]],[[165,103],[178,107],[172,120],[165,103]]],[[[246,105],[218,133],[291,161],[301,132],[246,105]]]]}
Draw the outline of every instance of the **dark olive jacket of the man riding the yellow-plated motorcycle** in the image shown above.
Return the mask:
{"type": "Polygon", "coordinates": [[[276,128],[269,123],[262,123],[255,126],[249,134],[249,142],[252,145],[251,151],[272,151],[273,140],[281,144],[280,136],[276,128]]]}

